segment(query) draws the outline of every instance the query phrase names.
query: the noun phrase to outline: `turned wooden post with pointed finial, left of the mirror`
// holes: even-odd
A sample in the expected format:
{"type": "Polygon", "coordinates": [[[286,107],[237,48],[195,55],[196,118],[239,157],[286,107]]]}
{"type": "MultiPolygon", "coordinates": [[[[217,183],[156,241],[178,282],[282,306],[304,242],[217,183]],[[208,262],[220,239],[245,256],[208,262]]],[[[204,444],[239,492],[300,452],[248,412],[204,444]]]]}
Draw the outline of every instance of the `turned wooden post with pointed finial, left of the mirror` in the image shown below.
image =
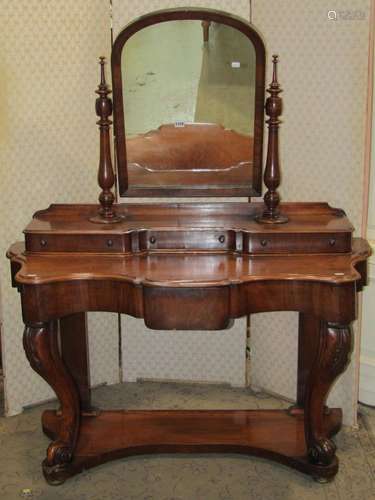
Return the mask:
{"type": "Polygon", "coordinates": [[[112,193],[112,187],[115,183],[115,175],[112,167],[111,160],[111,146],[109,137],[109,128],[112,124],[109,117],[112,114],[112,100],[108,97],[111,93],[107,82],[105,80],[105,57],[99,58],[100,64],[100,84],[98,90],[95,92],[99,94],[96,99],[95,109],[96,114],[99,116],[100,131],[100,160],[98,169],[98,183],[102,189],[99,195],[100,209],[98,215],[90,219],[91,222],[97,222],[101,224],[108,224],[113,222],[119,222],[120,217],[116,215],[113,208],[113,202],[115,201],[115,196],[112,193]]]}

